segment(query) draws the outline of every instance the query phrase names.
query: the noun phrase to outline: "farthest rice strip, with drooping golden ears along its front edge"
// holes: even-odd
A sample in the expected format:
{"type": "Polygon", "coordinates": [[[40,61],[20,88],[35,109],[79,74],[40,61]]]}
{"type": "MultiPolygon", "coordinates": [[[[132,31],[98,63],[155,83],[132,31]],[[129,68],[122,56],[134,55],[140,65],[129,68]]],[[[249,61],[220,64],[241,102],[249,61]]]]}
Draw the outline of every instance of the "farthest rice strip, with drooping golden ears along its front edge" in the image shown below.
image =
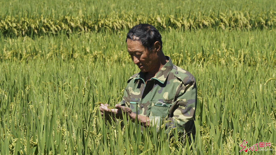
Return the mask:
{"type": "Polygon", "coordinates": [[[7,37],[114,32],[139,23],[171,29],[275,29],[276,10],[262,1],[32,1],[0,2],[0,34],[7,37]],[[209,6],[209,7],[205,7],[209,6]]]}

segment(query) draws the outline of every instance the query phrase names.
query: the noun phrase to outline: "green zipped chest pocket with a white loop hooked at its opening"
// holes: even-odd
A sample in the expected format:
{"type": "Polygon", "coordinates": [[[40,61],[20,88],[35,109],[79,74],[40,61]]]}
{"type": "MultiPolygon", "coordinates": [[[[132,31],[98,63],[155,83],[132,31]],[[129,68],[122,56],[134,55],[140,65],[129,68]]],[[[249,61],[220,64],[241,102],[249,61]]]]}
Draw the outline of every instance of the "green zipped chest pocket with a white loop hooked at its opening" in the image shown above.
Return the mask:
{"type": "Polygon", "coordinates": [[[167,118],[172,100],[154,99],[152,102],[153,106],[151,107],[150,116],[167,118]]]}

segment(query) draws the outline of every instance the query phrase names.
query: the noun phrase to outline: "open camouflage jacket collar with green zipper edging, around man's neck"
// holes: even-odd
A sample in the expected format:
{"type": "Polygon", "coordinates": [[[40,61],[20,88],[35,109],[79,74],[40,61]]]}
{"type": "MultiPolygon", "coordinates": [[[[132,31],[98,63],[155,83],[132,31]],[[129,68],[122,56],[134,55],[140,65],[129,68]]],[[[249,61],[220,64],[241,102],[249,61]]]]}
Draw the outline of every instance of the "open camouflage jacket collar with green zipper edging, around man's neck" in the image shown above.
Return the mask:
{"type": "MultiPolygon", "coordinates": [[[[166,58],[169,61],[157,72],[157,74],[153,78],[151,78],[151,80],[155,79],[155,80],[161,82],[162,84],[165,83],[165,81],[173,67],[171,58],[168,56],[166,56],[166,58]]],[[[143,82],[145,83],[145,79],[146,79],[145,74],[146,73],[140,71],[139,74],[137,75],[137,77],[134,79],[133,83],[135,83],[137,80],[143,80],[143,82]]]]}

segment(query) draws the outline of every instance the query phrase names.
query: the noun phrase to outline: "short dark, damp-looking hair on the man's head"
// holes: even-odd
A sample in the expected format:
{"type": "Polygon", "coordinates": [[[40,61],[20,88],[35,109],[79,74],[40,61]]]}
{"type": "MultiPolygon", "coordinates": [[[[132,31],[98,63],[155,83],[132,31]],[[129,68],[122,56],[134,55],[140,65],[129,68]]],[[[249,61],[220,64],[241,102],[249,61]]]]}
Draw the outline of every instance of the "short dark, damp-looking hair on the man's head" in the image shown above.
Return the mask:
{"type": "Polygon", "coordinates": [[[126,35],[126,41],[131,39],[133,41],[139,41],[142,45],[149,51],[152,50],[153,44],[158,41],[161,45],[162,50],[162,40],[161,34],[158,30],[150,24],[138,24],[133,26],[126,35]]]}

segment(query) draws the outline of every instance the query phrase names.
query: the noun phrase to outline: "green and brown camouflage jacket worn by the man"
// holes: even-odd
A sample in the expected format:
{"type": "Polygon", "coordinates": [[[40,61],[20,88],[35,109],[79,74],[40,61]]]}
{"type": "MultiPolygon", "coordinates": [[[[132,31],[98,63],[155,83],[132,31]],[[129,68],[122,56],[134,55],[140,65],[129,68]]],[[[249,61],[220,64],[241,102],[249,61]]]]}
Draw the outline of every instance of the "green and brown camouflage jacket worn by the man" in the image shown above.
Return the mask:
{"type": "Polygon", "coordinates": [[[169,60],[145,84],[145,73],[132,75],[124,89],[121,105],[132,112],[147,116],[160,127],[160,119],[168,121],[165,128],[178,127],[182,133],[195,134],[195,109],[197,105],[197,85],[195,78],[186,70],[169,60]],[[185,129],[185,130],[184,130],[185,129]]]}

